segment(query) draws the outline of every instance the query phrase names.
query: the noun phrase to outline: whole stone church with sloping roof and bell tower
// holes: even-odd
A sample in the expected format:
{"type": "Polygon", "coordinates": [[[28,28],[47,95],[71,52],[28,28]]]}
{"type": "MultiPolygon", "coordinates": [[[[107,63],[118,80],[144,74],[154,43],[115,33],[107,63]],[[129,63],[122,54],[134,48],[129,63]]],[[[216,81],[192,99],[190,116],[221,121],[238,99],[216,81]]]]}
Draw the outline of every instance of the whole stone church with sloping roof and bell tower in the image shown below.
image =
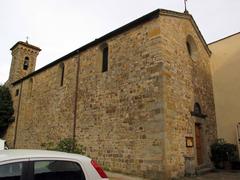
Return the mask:
{"type": "Polygon", "coordinates": [[[9,146],[71,137],[103,167],[152,179],[211,164],[211,51],[190,14],[157,9],[36,71],[39,47],[11,51],[9,146]]]}

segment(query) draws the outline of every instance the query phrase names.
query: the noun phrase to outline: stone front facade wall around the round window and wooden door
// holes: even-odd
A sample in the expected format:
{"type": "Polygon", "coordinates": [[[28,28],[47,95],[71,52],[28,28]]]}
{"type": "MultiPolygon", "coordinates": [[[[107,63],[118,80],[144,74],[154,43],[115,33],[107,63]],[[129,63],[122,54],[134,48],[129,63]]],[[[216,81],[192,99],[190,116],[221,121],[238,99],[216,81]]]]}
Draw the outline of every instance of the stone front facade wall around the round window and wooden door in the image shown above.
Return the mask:
{"type": "Polygon", "coordinates": [[[164,16],[160,18],[161,57],[164,60],[165,160],[168,176],[182,176],[185,157],[193,157],[197,165],[195,123],[202,126],[203,163],[209,164],[209,145],[216,139],[216,121],[209,55],[190,19],[164,16]],[[187,37],[197,46],[197,58],[187,50],[187,37]],[[206,119],[191,116],[199,103],[206,119]],[[185,137],[194,138],[194,146],[186,147],[185,137]]]}

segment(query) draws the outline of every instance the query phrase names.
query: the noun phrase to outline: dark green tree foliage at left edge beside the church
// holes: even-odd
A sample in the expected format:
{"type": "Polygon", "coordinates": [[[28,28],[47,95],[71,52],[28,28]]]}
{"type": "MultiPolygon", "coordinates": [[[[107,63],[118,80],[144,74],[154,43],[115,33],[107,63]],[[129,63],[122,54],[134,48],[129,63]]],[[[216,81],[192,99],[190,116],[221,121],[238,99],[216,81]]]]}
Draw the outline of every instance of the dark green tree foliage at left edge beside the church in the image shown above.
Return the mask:
{"type": "Polygon", "coordinates": [[[9,89],[0,85],[0,137],[3,137],[13,117],[13,102],[9,89]]]}

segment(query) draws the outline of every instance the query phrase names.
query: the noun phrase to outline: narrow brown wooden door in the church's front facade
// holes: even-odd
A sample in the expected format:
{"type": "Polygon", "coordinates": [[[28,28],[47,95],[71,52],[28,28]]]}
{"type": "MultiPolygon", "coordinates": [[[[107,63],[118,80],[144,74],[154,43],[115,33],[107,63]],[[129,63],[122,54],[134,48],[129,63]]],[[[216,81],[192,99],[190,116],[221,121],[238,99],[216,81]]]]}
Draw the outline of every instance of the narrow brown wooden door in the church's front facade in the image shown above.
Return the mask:
{"type": "Polygon", "coordinates": [[[202,159],[202,142],[201,142],[200,124],[195,124],[195,136],[196,136],[197,163],[198,165],[201,165],[203,163],[203,159],[202,159]]]}

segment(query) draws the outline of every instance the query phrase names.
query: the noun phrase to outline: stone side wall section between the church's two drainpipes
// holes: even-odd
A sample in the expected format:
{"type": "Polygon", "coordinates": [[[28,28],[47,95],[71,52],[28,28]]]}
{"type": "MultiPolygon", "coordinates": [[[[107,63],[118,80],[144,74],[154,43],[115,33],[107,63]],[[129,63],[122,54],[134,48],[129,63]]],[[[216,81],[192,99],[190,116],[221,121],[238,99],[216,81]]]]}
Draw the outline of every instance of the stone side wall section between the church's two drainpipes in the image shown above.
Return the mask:
{"type": "Polygon", "coordinates": [[[72,137],[76,62],[72,58],[64,64],[64,86],[59,65],[23,81],[16,148],[41,148],[72,137]]]}

